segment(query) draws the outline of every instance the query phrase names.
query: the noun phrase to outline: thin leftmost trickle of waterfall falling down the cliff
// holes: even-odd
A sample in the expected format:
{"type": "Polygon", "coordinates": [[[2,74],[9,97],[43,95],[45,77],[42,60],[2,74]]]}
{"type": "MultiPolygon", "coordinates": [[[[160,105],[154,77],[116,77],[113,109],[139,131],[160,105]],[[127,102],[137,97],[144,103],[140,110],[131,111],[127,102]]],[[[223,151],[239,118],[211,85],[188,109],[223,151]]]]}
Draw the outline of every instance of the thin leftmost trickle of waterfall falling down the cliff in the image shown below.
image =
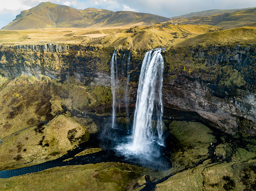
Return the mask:
{"type": "Polygon", "coordinates": [[[115,123],[115,71],[114,71],[114,57],[117,55],[117,53],[114,51],[112,58],[111,58],[111,92],[112,92],[112,128],[114,128],[115,123]]]}

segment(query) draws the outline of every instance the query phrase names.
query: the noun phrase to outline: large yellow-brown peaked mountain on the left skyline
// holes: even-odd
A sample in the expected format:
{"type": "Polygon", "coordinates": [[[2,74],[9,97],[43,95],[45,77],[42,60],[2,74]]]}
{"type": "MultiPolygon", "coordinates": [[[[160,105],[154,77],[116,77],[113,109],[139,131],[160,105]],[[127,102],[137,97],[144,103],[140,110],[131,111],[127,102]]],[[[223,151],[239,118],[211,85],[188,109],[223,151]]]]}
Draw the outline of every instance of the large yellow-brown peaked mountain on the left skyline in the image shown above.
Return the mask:
{"type": "Polygon", "coordinates": [[[22,30],[62,27],[115,27],[144,25],[151,26],[168,18],[148,13],[131,11],[113,12],[103,9],[88,8],[76,10],[73,7],[50,2],[40,3],[32,9],[22,11],[1,30],[22,30]]]}

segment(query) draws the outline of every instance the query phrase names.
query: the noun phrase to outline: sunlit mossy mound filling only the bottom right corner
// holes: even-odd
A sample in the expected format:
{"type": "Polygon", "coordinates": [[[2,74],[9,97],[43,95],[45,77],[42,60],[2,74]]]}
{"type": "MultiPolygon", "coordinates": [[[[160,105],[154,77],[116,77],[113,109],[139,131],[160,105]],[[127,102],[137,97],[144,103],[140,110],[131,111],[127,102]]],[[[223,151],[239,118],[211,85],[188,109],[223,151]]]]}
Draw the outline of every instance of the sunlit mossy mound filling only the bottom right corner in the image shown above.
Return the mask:
{"type": "Polygon", "coordinates": [[[206,165],[177,173],[156,190],[255,190],[256,161],[206,165]]]}

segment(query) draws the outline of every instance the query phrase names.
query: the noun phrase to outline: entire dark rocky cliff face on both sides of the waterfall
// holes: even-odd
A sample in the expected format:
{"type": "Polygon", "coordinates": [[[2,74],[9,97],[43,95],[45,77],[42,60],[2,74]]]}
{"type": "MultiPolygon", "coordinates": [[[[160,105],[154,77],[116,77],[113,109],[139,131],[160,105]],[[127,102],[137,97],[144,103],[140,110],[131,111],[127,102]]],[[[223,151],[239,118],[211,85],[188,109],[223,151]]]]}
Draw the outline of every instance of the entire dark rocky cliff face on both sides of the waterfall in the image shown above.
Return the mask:
{"type": "MultiPolygon", "coordinates": [[[[145,51],[131,51],[129,103],[136,101],[139,70],[145,51]]],[[[92,87],[110,86],[113,49],[96,46],[19,45],[0,48],[5,77],[44,74],[53,79],[92,87]]],[[[117,55],[120,97],[127,77],[127,51],[117,55]]],[[[163,96],[166,108],[198,113],[207,123],[229,134],[256,134],[256,47],[169,49],[165,57],[163,96]]],[[[120,98],[121,105],[125,101],[120,98]]],[[[168,113],[165,113],[168,115],[168,113]]]]}

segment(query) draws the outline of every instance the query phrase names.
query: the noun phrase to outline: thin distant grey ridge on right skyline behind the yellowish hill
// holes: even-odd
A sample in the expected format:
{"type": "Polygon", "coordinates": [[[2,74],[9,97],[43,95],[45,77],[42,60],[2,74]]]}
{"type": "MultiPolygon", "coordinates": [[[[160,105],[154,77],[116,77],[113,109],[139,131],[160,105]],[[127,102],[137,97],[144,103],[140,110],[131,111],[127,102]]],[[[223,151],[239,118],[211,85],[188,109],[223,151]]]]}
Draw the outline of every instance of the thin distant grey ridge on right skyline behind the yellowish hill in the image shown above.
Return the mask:
{"type": "MultiPolygon", "coordinates": [[[[256,7],[253,7],[253,8],[256,8],[256,7]]],[[[184,14],[184,15],[180,15],[180,16],[172,16],[170,19],[190,18],[190,17],[194,17],[194,16],[211,16],[211,15],[215,15],[215,14],[232,13],[232,12],[236,12],[236,11],[246,11],[246,10],[253,9],[253,8],[250,7],[250,8],[244,8],[244,9],[225,9],[225,10],[213,9],[213,10],[207,10],[207,11],[192,12],[192,13],[184,14]]]]}

